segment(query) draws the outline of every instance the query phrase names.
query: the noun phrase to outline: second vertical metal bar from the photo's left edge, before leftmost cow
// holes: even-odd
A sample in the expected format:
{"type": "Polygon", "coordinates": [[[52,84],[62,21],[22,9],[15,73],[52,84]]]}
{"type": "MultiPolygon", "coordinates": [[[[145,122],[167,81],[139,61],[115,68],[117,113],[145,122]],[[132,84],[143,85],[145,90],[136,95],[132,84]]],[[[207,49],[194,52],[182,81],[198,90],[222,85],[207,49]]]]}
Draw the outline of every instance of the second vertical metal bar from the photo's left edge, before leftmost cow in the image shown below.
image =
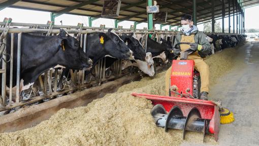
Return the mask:
{"type": "Polygon", "coordinates": [[[12,103],[12,87],[13,87],[13,66],[14,66],[14,33],[11,34],[11,61],[10,61],[10,90],[9,90],[9,104],[12,103]]]}

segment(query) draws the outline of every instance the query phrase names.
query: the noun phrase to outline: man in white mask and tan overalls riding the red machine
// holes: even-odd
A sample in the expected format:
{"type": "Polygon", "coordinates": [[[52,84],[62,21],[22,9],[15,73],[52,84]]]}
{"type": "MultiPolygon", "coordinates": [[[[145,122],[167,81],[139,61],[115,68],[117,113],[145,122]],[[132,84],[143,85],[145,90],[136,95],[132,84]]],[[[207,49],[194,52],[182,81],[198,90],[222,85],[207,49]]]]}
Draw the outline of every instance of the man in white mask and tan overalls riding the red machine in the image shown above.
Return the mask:
{"type": "MultiPolygon", "coordinates": [[[[176,35],[174,46],[179,42],[187,42],[187,44],[181,44],[180,47],[174,47],[174,55],[179,56],[180,51],[185,49],[192,49],[193,53],[189,54],[187,60],[195,61],[195,69],[200,72],[201,75],[201,96],[200,99],[208,100],[209,93],[209,67],[203,61],[203,58],[210,53],[210,43],[206,39],[205,34],[198,31],[197,26],[193,25],[192,16],[189,14],[184,14],[181,17],[181,31],[176,35]]],[[[177,60],[180,58],[178,57],[177,60]]],[[[169,94],[169,78],[171,76],[170,68],[166,73],[166,95],[169,94]]]]}

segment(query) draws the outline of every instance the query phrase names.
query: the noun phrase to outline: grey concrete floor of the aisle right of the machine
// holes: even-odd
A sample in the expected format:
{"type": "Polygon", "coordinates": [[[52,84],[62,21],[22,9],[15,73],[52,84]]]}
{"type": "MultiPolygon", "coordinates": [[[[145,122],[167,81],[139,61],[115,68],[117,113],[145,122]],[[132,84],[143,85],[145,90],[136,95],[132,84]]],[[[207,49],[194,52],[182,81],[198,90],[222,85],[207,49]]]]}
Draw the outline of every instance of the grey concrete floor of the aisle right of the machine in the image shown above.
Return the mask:
{"type": "MultiPolygon", "coordinates": [[[[259,42],[240,47],[235,67],[214,85],[209,98],[219,99],[236,121],[220,125],[218,145],[259,145],[259,42]]],[[[182,145],[210,145],[183,142],[182,145]]]]}

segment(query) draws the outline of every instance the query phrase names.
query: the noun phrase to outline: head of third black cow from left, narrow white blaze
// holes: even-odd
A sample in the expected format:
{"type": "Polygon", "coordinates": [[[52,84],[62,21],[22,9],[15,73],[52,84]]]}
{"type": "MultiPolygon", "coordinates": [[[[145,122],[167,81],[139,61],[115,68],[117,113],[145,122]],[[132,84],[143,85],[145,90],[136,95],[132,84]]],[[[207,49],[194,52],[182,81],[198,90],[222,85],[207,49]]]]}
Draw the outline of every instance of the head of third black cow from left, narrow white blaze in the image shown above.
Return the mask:
{"type": "Polygon", "coordinates": [[[146,52],[135,33],[126,35],[122,33],[121,39],[127,44],[127,46],[133,51],[133,56],[135,60],[145,61],[146,52]]]}

